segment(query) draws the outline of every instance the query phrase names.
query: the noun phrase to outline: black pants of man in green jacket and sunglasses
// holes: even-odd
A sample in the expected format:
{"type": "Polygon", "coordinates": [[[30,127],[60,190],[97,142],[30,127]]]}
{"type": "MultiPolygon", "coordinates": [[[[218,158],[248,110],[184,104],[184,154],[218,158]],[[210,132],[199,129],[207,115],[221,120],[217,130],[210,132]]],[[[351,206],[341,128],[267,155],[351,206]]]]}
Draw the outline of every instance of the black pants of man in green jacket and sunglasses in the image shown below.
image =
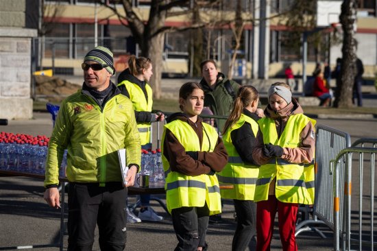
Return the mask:
{"type": "Polygon", "coordinates": [[[121,182],[69,183],[68,250],[92,250],[96,223],[101,250],[124,250],[126,199],[121,182]]]}

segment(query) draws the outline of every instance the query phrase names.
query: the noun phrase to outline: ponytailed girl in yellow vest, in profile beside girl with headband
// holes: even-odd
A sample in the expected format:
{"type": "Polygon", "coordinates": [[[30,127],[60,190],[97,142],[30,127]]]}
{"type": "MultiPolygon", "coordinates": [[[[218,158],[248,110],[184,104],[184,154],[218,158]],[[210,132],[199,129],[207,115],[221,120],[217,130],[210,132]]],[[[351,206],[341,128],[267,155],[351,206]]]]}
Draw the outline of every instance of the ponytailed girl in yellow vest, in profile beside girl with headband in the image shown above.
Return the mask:
{"type": "MultiPolygon", "coordinates": [[[[233,189],[221,190],[221,198],[233,199],[237,215],[232,250],[245,250],[256,235],[256,204],[254,190],[259,166],[252,158],[252,147],[258,132],[258,91],[253,86],[239,88],[233,110],[223,129],[228,164],[217,174],[220,184],[233,189]]],[[[255,245],[255,244],[254,244],[255,245]]]]}

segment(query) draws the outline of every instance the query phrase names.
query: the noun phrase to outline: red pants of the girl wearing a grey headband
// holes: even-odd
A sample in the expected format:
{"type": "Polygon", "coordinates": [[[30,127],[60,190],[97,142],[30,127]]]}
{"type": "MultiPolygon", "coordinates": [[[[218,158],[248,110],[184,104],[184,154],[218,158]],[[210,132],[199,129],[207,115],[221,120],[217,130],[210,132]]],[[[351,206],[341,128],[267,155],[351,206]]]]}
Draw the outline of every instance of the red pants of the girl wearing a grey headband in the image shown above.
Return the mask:
{"type": "Polygon", "coordinates": [[[269,195],[268,200],[256,203],[256,250],[270,249],[273,235],[273,222],[278,211],[279,232],[282,248],[286,251],[297,251],[295,224],[298,204],[284,203],[269,195]]]}

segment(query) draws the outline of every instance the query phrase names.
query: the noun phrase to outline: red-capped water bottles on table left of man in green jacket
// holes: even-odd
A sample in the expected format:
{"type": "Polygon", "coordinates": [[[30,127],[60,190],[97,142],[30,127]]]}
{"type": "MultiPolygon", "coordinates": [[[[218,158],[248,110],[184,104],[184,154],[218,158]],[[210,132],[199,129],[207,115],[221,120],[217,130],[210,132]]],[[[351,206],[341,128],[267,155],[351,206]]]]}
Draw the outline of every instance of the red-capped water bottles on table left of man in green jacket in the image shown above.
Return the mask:
{"type": "MultiPolygon", "coordinates": [[[[45,175],[49,138],[38,135],[0,132],[0,169],[27,174],[45,175]]],[[[59,170],[65,176],[66,151],[59,170]]]]}

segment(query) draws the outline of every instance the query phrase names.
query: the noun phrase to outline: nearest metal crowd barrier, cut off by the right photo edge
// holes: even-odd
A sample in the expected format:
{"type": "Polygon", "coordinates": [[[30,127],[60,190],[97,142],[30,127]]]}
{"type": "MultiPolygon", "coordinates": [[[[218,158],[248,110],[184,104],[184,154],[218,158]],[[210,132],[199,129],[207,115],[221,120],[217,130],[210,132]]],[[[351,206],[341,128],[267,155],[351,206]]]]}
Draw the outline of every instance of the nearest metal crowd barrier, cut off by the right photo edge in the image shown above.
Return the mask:
{"type": "Polygon", "coordinates": [[[374,250],[377,242],[374,241],[374,189],[375,189],[375,168],[376,168],[376,153],[377,153],[377,139],[359,139],[352,147],[348,147],[337,155],[334,160],[331,160],[335,174],[335,191],[334,191],[334,219],[335,219],[335,250],[340,250],[340,239],[342,239],[341,250],[351,250],[356,248],[351,246],[355,243],[358,250],[363,250],[364,246],[369,246],[370,250],[374,250]],[[372,144],[371,147],[365,145],[372,144]],[[360,146],[359,146],[360,145],[360,146]],[[352,156],[358,156],[352,159],[352,156]],[[365,154],[370,155],[370,158],[365,158],[365,154]],[[350,161],[345,169],[345,174],[341,174],[341,159],[350,158],[350,161]],[[370,163],[370,169],[367,168],[367,163],[370,163]],[[353,163],[358,167],[358,175],[352,173],[353,163]],[[369,175],[369,176],[368,176],[369,175]],[[370,182],[364,184],[364,182],[370,182]],[[352,191],[352,182],[358,182],[358,186],[354,186],[352,191]],[[344,183],[343,188],[341,184],[344,183]],[[370,198],[364,193],[364,189],[370,189],[370,198]],[[343,191],[343,193],[341,193],[343,191]],[[352,194],[353,192],[353,194],[352,194]],[[343,195],[342,195],[343,194],[343,195]],[[358,197],[357,204],[352,204],[352,195],[358,197]],[[343,197],[343,200],[341,200],[343,197]],[[369,201],[368,201],[369,200],[369,201]],[[369,202],[369,205],[368,205],[369,202]],[[368,205],[368,206],[367,206],[368,205]],[[352,213],[352,206],[358,213],[352,213]],[[343,211],[339,208],[344,208],[343,211]],[[369,215],[369,221],[367,220],[369,215]]]}

